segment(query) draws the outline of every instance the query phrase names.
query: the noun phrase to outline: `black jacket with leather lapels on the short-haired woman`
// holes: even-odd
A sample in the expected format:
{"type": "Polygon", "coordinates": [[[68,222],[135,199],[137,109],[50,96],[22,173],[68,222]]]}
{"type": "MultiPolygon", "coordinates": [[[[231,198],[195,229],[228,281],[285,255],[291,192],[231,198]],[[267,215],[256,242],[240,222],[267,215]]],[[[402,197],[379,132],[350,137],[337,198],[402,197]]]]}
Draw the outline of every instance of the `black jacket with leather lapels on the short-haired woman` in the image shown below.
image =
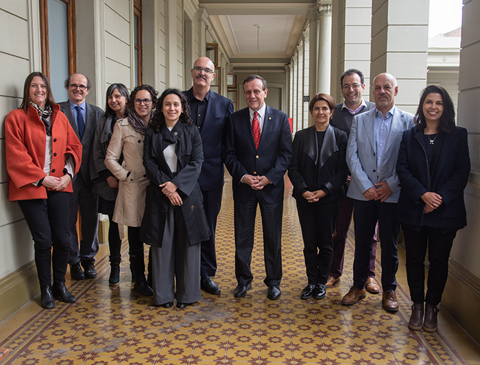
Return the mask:
{"type": "Polygon", "coordinates": [[[315,126],[296,132],[288,172],[293,185],[293,197],[303,201],[302,193],[305,191],[322,189],[327,195],[318,201],[320,204],[339,198],[340,189],[348,175],[346,148],[346,132],[329,125],[320,150],[320,168],[317,168],[319,151],[315,126]]]}

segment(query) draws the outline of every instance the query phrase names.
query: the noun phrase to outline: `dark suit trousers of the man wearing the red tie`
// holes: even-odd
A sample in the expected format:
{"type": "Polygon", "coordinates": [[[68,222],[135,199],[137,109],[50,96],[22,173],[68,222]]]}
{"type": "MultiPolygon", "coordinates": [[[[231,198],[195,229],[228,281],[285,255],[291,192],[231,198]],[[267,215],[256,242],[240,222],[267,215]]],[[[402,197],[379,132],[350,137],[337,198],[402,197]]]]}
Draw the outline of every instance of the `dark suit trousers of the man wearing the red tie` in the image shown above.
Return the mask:
{"type": "Polygon", "coordinates": [[[265,285],[280,285],[282,280],[282,215],[283,200],[265,202],[260,191],[255,191],[248,202],[234,201],[235,218],[235,276],[237,283],[248,285],[253,275],[250,268],[254,245],[256,207],[260,206],[263,226],[263,259],[265,285]]]}

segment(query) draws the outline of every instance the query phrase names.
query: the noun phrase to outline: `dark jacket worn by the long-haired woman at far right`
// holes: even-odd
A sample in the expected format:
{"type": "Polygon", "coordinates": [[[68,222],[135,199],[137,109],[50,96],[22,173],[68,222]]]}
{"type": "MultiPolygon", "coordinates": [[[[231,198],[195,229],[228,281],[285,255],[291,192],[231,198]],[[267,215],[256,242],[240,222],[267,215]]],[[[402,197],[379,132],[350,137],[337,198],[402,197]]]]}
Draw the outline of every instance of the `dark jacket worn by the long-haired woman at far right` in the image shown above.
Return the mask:
{"type": "Polygon", "coordinates": [[[466,226],[464,189],[470,174],[467,131],[455,127],[452,133],[443,135],[441,142],[438,161],[430,176],[423,130],[413,127],[403,132],[396,165],[402,188],[396,208],[398,222],[424,226],[425,203],[421,197],[431,191],[440,194],[444,202],[428,213],[428,226],[444,229],[466,226]]]}

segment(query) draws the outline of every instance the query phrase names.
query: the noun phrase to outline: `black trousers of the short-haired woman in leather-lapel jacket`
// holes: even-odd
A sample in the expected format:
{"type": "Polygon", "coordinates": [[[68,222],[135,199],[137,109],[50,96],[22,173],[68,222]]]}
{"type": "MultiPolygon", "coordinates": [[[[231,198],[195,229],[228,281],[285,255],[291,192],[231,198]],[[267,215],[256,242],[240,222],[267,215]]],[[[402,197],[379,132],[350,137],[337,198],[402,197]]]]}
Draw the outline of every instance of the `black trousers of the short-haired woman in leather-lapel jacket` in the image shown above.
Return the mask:
{"type": "MultiPolygon", "coordinates": [[[[303,199],[303,198],[300,198],[303,199]]],[[[309,284],[326,284],[333,259],[333,239],[339,200],[324,204],[297,201],[302,226],[303,255],[309,284]]]]}

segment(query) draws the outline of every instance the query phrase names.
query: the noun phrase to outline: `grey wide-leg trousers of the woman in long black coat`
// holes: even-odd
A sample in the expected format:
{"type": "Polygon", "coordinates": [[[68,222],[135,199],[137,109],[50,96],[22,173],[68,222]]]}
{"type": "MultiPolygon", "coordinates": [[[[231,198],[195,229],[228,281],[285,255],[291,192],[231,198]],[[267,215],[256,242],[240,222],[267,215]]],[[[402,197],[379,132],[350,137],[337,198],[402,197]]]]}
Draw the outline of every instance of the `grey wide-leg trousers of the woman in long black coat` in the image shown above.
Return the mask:
{"type": "Polygon", "coordinates": [[[162,247],[152,246],[154,305],[195,303],[200,292],[200,244],[191,245],[180,207],[170,206],[162,247]]]}

